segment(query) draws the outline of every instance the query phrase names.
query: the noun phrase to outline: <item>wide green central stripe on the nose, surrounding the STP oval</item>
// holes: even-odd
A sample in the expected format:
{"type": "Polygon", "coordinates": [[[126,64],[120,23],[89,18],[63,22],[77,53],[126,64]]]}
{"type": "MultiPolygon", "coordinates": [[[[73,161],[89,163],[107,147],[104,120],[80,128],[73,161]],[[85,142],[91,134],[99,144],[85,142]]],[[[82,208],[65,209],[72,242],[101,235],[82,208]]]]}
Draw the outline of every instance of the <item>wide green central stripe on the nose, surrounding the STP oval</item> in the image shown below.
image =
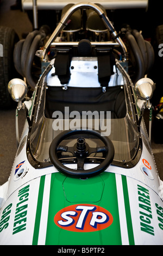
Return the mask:
{"type": "Polygon", "coordinates": [[[86,180],[52,174],[45,245],[122,245],[114,173],[103,172],[86,180]],[[59,210],[83,203],[105,208],[114,221],[108,228],[91,233],[64,230],[54,223],[59,210]]]}

